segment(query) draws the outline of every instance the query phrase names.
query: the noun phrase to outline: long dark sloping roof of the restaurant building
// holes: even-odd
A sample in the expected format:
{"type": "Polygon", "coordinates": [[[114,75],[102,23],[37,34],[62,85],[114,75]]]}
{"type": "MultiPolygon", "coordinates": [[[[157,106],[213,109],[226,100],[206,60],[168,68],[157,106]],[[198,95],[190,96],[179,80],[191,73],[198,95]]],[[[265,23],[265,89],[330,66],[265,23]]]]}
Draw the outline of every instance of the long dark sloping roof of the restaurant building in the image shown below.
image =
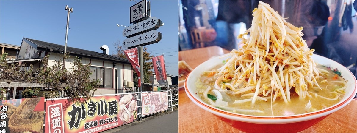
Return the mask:
{"type": "MultiPolygon", "coordinates": [[[[29,39],[29,38],[24,38],[24,39],[29,40],[32,43],[34,43],[35,45],[37,45],[37,50],[41,50],[41,51],[49,52],[52,49],[53,50],[52,52],[61,53],[61,52],[64,52],[64,49],[65,49],[64,45],[47,43],[44,41],[39,41],[39,40],[34,40],[34,39],[29,39]]],[[[67,52],[69,52],[70,55],[75,55],[75,56],[79,56],[79,57],[87,57],[87,58],[91,58],[91,59],[99,59],[99,60],[114,61],[114,62],[130,64],[129,60],[127,60],[127,59],[122,59],[119,57],[106,55],[106,54],[103,54],[100,52],[89,51],[89,50],[84,50],[84,49],[77,49],[77,48],[73,48],[73,47],[69,47],[69,46],[67,46],[67,52]]]]}

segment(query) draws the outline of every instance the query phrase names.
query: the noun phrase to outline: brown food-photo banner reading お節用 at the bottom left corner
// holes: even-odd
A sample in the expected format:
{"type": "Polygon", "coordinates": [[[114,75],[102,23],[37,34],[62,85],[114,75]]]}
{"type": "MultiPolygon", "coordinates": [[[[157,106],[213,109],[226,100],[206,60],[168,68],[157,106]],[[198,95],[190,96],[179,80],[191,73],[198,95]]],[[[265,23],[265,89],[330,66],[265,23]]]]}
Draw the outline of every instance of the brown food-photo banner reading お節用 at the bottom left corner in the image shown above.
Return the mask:
{"type": "Polygon", "coordinates": [[[44,102],[43,97],[1,100],[0,133],[42,133],[44,102]]]}

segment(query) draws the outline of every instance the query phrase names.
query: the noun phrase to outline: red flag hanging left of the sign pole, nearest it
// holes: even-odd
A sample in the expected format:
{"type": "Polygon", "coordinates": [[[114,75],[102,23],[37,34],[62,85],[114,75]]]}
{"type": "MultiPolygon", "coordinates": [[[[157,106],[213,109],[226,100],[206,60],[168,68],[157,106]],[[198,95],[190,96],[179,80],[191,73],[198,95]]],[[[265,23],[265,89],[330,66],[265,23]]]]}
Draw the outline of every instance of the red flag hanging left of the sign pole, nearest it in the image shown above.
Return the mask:
{"type": "Polygon", "coordinates": [[[136,74],[137,74],[137,79],[138,79],[138,87],[141,86],[141,78],[140,78],[140,66],[139,66],[139,58],[137,54],[137,48],[132,48],[128,50],[124,50],[124,53],[126,57],[129,59],[131,65],[133,66],[136,74]]]}

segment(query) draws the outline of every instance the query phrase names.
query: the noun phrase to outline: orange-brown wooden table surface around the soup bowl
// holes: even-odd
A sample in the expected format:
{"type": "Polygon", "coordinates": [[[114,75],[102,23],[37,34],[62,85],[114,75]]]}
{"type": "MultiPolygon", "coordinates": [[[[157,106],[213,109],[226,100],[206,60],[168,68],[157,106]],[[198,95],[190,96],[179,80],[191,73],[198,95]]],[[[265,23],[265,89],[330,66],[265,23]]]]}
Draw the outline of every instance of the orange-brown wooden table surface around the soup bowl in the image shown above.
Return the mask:
{"type": "MultiPolygon", "coordinates": [[[[180,51],[178,59],[184,60],[192,68],[197,67],[213,56],[229,53],[218,46],[180,51]]],[[[186,95],[185,89],[179,89],[178,100],[178,132],[180,133],[221,133],[221,132],[242,132],[239,131],[211,113],[196,106],[186,95]]],[[[327,116],[316,125],[302,131],[311,132],[345,132],[357,133],[357,99],[353,99],[350,104],[327,116]]]]}

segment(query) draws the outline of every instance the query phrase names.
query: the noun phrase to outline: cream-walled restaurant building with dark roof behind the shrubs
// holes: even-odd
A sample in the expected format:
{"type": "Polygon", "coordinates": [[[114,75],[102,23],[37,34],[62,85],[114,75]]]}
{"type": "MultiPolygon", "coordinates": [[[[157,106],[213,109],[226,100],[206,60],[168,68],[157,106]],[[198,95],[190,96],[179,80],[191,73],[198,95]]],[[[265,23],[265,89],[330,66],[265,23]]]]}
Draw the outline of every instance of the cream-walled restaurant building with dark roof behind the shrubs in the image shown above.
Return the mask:
{"type": "MultiPolygon", "coordinates": [[[[106,45],[101,46],[100,49],[103,50],[103,53],[67,47],[66,52],[70,57],[66,59],[65,67],[70,68],[71,61],[78,56],[81,58],[82,64],[91,63],[90,68],[94,73],[90,79],[100,80],[100,87],[97,88],[95,95],[125,93],[125,85],[127,85],[125,82],[132,82],[132,67],[129,60],[109,55],[106,45]]],[[[17,60],[8,63],[32,64],[36,70],[42,67],[40,61],[46,55],[50,55],[49,66],[53,66],[56,60],[63,58],[63,53],[64,45],[23,38],[17,60]]]]}

